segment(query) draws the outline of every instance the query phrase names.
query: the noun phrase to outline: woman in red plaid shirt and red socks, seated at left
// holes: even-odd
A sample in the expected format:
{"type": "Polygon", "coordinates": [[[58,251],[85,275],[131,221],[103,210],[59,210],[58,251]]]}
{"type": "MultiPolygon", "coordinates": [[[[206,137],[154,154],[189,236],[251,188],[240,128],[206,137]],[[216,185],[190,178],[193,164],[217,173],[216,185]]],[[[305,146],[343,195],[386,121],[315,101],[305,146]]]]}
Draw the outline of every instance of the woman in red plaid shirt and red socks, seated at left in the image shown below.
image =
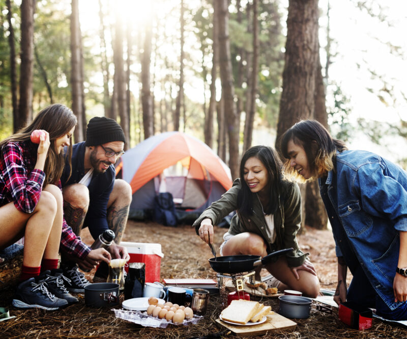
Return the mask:
{"type": "MultiPolygon", "coordinates": [[[[24,238],[20,283],[13,305],[57,309],[77,302],[57,270],[61,234],[66,246],[90,249],[64,222],[61,174],[71,157],[76,117],[64,105],[42,110],[34,121],[0,142],[0,248],[24,238]],[[42,129],[39,144],[31,133],[42,129]],[[68,152],[64,154],[64,146],[68,152]]],[[[64,244],[63,244],[64,246],[64,244]]]]}

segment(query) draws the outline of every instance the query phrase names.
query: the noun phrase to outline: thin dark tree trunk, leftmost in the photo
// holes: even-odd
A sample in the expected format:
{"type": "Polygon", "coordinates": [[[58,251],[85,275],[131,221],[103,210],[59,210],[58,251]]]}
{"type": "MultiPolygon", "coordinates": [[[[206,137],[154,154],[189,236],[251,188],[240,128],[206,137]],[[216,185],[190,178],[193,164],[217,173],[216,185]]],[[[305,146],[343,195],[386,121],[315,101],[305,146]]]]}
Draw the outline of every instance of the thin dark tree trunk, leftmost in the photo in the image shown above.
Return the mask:
{"type": "Polygon", "coordinates": [[[9,23],[9,45],[10,45],[10,82],[11,82],[11,102],[13,105],[13,132],[17,132],[18,122],[18,97],[17,97],[17,69],[16,69],[16,48],[14,44],[14,28],[11,18],[10,0],[6,0],[7,4],[7,21],[9,23]]]}

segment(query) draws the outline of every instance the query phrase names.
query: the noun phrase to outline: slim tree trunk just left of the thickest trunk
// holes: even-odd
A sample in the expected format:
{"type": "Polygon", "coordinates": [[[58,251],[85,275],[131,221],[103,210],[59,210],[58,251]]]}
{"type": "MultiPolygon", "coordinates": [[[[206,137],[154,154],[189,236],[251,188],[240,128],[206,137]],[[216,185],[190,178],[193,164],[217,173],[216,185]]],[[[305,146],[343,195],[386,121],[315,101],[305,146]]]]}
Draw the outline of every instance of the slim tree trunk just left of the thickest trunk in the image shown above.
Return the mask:
{"type": "Polygon", "coordinates": [[[254,115],[256,113],[257,73],[258,73],[258,2],[253,0],[253,64],[251,69],[250,110],[246,114],[243,152],[251,146],[254,115]]]}

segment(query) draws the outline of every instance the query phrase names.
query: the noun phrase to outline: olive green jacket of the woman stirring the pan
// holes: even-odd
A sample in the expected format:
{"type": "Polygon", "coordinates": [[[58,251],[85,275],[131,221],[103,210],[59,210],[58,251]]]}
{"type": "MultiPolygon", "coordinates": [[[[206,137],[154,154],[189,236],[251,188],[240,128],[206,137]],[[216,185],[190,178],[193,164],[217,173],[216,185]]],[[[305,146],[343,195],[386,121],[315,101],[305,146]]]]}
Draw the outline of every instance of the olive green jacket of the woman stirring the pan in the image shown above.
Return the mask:
{"type": "Polygon", "coordinates": [[[293,247],[294,250],[286,254],[288,266],[301,266],[308,253],[304,254],[300,250],[296,239],[296,234],[301,225],[300,189],[297,184],[289,181],[283,181],[282,187],[282,192],[279,195],[278,210],[274,214],[274,228],[276,232],[274,244],[271,243],[271,239],[268,237],[263,206],[261,206],[257,194],[254,193],[252,197],[254,200],[252,215],[245,217],[239,213],[237,201],[238,192],[241,189],[240,179],[236,179],[233,186],[218,201],[213,202],[203,211],[199,218],[195,220],[192,227],[195,227],[196,234],[198,234],[198,229],[203,219],[209,218],[212,220],[213,225],[217,225],[230,212],[236,211],[237,214],[232,218],[230,223],[230,234],[234,236],[243,232],[258,234],[267,244],[268,253],[293,247]]]}

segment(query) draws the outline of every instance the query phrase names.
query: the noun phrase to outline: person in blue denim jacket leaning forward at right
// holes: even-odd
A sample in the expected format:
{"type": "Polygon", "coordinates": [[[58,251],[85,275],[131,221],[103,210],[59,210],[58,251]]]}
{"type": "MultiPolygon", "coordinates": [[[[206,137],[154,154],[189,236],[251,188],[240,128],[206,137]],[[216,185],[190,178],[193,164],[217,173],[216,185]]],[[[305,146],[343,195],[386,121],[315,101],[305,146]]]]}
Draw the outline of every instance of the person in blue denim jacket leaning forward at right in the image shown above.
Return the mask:
{"type": "Polygon", "coordinates": [[[407,320],[407,173],[374,153],[348,150],[314,120],[288,129],[281,151],[287,174],[318,179],[336,243],[334,300],[407,320]]]}

